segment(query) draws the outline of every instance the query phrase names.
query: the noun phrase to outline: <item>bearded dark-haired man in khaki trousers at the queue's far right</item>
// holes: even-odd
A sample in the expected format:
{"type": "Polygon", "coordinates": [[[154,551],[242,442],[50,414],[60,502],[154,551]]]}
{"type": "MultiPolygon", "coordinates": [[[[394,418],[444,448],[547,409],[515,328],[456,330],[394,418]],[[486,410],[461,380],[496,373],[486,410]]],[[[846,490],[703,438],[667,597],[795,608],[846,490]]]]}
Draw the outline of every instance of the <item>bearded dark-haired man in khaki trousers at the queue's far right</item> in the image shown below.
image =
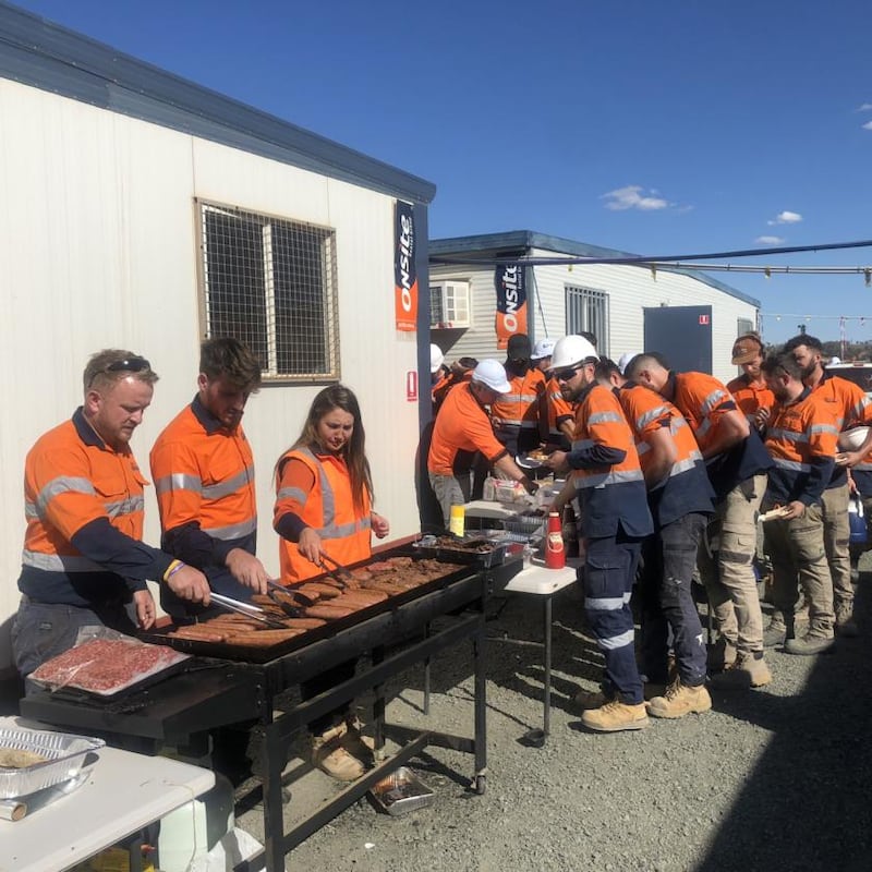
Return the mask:
{"type": "MultiPolygon", "coordinates": [[[[829,410],[839,432],[856,424],[872,422],[872,405],[859,385],[847,378],[829,375],[824,368],[821,340],[808,334],[799,334],[785,343],[784,351],[794,355],[802,367],[802,383],[810,388],[815,398],[829,410]]],[[[832,479],[823,493],[824,545],[833,576],[833,595],[836,611],[836,632],[841,635],[857,635],[853,620],[853,588],[851,585],[850,564],[850,521],[848,500],[850,488],[847,470],[856,467],[872,449],[872,431],[865,443],[856,451],[845,451],[836,458],[832,479]]],[[[773,615],[773,623],[767,632],[767,642],[776,643],[784,635],[779,615],[773,615]]]]}

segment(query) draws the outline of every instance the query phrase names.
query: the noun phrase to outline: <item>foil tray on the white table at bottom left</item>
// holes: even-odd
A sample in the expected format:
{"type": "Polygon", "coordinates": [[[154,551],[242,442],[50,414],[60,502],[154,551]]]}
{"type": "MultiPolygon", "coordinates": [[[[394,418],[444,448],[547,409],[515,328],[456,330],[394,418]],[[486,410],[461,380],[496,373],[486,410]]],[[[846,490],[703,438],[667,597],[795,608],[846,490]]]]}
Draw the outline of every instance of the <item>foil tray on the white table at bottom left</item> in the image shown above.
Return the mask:
{"type": "Polygon", "coordinates": [[[105,744],[92,736],[0,727],[1,749],[31,751],[45,758],[22,768],[0,766],[0,799],[27,796],[78,777],[85,755],[105,744]]]}

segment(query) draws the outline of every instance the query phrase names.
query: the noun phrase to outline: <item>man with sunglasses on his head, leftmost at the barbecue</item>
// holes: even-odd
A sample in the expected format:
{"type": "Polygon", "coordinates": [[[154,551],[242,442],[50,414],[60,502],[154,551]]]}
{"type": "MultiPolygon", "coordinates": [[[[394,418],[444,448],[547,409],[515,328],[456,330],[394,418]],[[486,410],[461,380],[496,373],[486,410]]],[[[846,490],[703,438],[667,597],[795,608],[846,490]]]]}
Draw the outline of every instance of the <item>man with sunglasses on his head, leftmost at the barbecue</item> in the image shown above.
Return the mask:
{"type": "MultiPolygon", "coordinates": [[[[131,351],[94,354],[82,405],[27,453],[22,596],[12,627],[22,676],[71,649],[81,627],[135,632],[124,608],[131,601],[138,627],[150,628],[156,611],[148,579],[184,600],[209,602],[202,572],[142,542],[147,482],[130,439],[157,378],[131,351]]],[[[25,687],[38,689],[29,681],[25,687]]]]}

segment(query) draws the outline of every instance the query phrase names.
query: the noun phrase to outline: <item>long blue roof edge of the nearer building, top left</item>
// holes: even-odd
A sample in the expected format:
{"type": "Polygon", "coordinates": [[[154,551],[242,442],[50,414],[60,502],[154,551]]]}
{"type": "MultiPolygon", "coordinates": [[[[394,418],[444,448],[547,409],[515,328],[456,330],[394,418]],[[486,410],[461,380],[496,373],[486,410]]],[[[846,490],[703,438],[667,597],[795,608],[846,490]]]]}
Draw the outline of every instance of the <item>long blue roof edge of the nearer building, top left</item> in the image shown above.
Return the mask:
{"type": "Polygon", "coordinates": [[[0,0],[0,76],[402,199],[436,185],[0,0]]]}

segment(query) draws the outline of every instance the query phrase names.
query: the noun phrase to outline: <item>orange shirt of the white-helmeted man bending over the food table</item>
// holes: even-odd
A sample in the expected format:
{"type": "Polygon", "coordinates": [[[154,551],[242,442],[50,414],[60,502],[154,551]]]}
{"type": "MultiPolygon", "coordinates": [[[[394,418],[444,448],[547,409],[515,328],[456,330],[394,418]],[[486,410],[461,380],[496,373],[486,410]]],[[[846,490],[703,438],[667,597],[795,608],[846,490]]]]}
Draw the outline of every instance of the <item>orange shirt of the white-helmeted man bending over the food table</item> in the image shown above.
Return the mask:
{"type": "Polygon", "coordinates": [[[437,475],[468,472],[476,451],[481,451],[488,463],[507,453],[471,385],[458,385],[449,391],[436,415],[427,470],[437,475]]]}

